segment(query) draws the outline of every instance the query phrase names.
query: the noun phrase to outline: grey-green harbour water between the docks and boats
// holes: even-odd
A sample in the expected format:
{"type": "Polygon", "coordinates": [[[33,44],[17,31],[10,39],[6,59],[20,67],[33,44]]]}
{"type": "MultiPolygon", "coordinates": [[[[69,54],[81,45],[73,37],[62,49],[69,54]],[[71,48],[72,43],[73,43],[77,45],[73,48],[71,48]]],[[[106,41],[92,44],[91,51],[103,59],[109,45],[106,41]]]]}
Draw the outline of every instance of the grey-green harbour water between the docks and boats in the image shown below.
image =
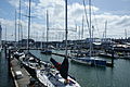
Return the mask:
{"type": "MultiPolygon", "coordinates": [[[[64,51],[57,51],[64,53],[64,51]]],[[[36,57],[43,61],[54,58],[62,62],[63,58],[57,55],[44,55],[40,51],[31,50],[36,57]]],[[[13,87],[12,79],[8,75],[8,62],[4,54],[0,58],[0,87],[13,87]]],[[[107,59],[108,60],[108,59],[107,59]]],[[[73,63],[69,61],[69,75],[74,76],[81,87],[130,87],[130,60],[117,59],[115,66],[95,67],[73,63]]]]}

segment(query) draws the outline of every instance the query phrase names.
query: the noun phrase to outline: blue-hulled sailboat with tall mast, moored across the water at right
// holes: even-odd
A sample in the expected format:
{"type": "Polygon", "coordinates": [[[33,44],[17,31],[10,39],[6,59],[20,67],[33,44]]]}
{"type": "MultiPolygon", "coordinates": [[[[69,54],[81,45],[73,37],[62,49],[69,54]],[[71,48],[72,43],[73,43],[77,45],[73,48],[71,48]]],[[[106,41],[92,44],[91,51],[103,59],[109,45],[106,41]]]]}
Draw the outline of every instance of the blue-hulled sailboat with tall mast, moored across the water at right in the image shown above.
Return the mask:
{"type": "Polygon", "coordinates": [[[100,65],[100,66],[106,66],[106,61],[102,59],[95,59],[92,57],[92,30],[91,30],[91,0],[89,0],[89,34],[90,34],[90,50],[89,50],[89,57],[74,57],[72,58],[72,61],[81,63],[81,64],[89,64],[89,65],[100,65]]]}

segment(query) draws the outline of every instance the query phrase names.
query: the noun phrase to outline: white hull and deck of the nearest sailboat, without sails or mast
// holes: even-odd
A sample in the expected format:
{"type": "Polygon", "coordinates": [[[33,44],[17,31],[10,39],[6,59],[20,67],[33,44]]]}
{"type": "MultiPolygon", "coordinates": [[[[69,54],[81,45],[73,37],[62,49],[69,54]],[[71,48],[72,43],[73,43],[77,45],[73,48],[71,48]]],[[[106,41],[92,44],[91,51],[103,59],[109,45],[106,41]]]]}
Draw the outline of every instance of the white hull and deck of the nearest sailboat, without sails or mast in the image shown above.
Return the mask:
{"type": "MultiPolygon", "coordinates": [[[[57,72],[57,71],[54,71],[57,72]]],[[[37,78],[47,87],[80,87],[79,84],[74,80],[73,78],[70,78],[69,76],[67,77],[72,83],[70,84],[64,84],[65,79],[60,75],[60,74],[54,74],[53,73],[48,73],[44,70],[41,71],[37,70],[37,78]],[[75,84],[74,84],[75,83],[75,84]]]]}

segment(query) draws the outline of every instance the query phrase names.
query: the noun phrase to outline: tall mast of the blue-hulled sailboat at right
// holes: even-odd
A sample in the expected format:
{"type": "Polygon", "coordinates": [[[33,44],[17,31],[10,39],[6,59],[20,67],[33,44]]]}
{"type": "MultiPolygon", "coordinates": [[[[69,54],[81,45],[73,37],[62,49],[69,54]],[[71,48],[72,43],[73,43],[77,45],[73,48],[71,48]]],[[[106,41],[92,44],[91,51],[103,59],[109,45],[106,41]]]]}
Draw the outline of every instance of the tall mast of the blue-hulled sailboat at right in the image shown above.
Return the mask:
{"type": "Polygon", "coordinates": [[[91,35],[91,0],[89,0],[89,21],[90,21],[90,25],[89,25],[89,33],[90,33],[90,57],[92,53],[92,35],[91,35]]]}

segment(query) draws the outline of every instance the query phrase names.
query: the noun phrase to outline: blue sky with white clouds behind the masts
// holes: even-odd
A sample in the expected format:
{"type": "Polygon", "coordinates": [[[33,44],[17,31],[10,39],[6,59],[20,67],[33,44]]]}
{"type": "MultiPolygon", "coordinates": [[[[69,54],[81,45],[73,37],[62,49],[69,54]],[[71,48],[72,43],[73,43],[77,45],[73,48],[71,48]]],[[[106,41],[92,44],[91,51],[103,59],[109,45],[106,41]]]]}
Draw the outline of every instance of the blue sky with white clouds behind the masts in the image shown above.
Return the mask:
{"type": "MultiPolygon", "coordinates": [[[[89,38],[87,17],[89,18],[88,0],[68,0],[68,39],[89,38]],[[83,34],[82,30],[83,16],[83,34]],[[76,26],[77,25],[77,26],[76,26]]],[[[130,37],[130,0],[91,0],[91,18],[93,37],[103,38],[106,24],[106,37],[130,37]]],[[[14,40],[15,37],[15,10],[17,12],[20,0],[0,0],[0,23],[2,39],[14,40]]],[[[27,38],[28,0],[21,0],[21,36],[27,38]]],[[[47,38],[47,10],[49,12],[49,40],[63,40],[65,36],[65,0],[31,0],[31,28],[30,37],[35,40],[47,38]]],[[[17,34],[18,36],[18,34],[17,34]]]]}

